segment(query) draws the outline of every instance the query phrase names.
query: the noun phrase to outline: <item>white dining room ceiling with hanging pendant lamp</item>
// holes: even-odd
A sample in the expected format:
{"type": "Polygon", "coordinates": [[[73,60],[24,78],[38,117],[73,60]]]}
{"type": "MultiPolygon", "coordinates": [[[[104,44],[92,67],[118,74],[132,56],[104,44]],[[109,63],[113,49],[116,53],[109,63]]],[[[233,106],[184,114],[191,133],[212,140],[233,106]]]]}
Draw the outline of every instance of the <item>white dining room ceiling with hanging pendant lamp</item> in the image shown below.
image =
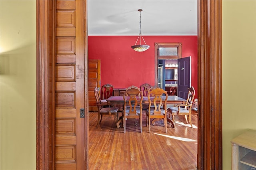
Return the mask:
{"type": "Polygon", "coordinates": [[[88,36],[197,35],[197,0],[88,0],[88,36]]]}

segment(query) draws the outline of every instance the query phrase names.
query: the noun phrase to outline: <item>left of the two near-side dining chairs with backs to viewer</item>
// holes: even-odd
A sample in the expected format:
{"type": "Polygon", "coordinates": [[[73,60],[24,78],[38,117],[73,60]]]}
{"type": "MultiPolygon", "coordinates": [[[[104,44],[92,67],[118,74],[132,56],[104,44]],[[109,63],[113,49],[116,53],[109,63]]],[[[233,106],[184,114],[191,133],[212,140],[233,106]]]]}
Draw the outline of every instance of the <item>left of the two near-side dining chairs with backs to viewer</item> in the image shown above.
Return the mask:
{"type": "Polygon", "coordinates": [[[124,92],[124,110],[122,111],[122,121],[124,125],[124,133],[126,132],[126,120],[135,119],[135,125],[140,120],[140,132],[142,133],[142,91],[138,87],[128,87],[124,92]]]}

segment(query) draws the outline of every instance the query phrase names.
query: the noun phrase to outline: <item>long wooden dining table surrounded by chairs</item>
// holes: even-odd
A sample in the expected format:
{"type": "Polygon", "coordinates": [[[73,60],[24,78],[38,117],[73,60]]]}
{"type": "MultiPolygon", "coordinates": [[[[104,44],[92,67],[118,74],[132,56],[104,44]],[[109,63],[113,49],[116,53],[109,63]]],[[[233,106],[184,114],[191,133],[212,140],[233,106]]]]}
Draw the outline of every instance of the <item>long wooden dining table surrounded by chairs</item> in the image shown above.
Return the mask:
{"type": "MultiPolygon", "coordinates": [[[[129,98],[129,96],[125,96],[127,99],[129,98]]],[[[137,97],[138,100],[140,99],[140,96],[137,97]]],[[[150,98],[154,98],[154,97],[150,97],[150,98]]],[[[162,96],[162,100],[164,101],[166,98],[166,96],[162,96]]],[[[127,100],[126,100],[127,101],[127,100]]],[[[110,96],[107,99],[108,104],[114,104],[114,105],[124,105],[124,97],[123,96],[110,96]]],[[[168,99],[166,101],[166,105],[163,107],[168,107],[168,105],[177,105],[177,104],[185,104],[186,103],[186,99],[183,99],[181,97],[175,96],[175,95],[168,95],[168,99]]],[[[149,105],[149,100],[148,100],[148,96],[143,96],[142,99],[142,105],[149,105]]],[[[168,109],[168,108],[167,108],[168,109]]],[[[172,121],[172,119],[170,119],[170,117],[167,117],[167,122],[172,124],[172,127],[175,127],[175,123],[174,121],[172,121]]],[[[116,127],[119,128],[120,127],[120,123],[122,122],[122,116],[119,117],[117,123],[116,123],[116,127]]],[[[152,124],[154,125],[154,122],[152,121],[152,124]]]]}

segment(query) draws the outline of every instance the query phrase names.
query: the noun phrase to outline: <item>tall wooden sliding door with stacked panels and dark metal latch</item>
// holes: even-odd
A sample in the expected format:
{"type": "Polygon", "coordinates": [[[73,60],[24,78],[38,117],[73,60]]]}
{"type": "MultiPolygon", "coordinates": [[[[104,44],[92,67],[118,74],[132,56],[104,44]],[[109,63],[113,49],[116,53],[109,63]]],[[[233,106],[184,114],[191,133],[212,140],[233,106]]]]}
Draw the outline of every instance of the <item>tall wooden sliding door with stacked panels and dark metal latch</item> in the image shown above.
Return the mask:
{"type": "Polygon", "coordinates": [[[84,1],[56,1],[55,169],[85,169],[84,1]]]}

